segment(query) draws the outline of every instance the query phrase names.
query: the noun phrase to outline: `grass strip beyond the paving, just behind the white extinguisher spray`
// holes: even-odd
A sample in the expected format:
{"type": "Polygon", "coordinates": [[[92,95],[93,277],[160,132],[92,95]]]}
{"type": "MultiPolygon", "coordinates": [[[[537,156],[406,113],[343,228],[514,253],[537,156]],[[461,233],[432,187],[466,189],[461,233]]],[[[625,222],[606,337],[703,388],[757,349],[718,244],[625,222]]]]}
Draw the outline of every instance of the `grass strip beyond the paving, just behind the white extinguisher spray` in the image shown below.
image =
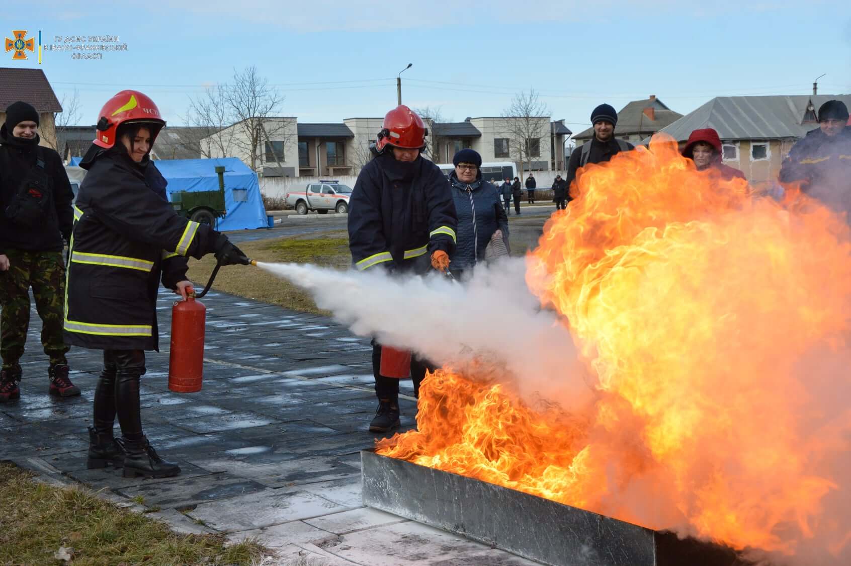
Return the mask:
{"type": "MultiPolygon", "coordinates": [[[[279,237],[240,243],[239,249],[252,260],[270,263],[312,263],[340,269],[351,264],[349,240],[346,233],[340,231],[320,232],[310,237],[279,237]]],[[[197,290],[203,289],[214,266],[215,258],[212,254],[200,261],[190,260],[188,276],[196,283],[197,290]]],[[[252,266],[220,268],[213,289],[294,311],[328,314],[317,308],[306,291],[252,266]]]]}

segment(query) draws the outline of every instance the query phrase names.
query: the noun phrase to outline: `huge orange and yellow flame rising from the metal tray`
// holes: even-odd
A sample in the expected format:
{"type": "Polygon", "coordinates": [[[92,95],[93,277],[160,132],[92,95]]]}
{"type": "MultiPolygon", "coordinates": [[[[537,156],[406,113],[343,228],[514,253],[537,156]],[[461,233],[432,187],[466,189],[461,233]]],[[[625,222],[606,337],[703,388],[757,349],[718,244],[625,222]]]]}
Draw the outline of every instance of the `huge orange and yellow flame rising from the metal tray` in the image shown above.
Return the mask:
{"type": "Polygon", "coordinates": [[[851,488],[837,464],[851,437],[844,219],[794,191],[751,197],[670,140],[586,167],[572,190],[527,281],[564,315],[592,402],[535,403],[512,385],[527,376],[484,365],[438,370],[419,432],[379,452],[739,548],[841,552],[848,512],[824,507],[851,488]]]}

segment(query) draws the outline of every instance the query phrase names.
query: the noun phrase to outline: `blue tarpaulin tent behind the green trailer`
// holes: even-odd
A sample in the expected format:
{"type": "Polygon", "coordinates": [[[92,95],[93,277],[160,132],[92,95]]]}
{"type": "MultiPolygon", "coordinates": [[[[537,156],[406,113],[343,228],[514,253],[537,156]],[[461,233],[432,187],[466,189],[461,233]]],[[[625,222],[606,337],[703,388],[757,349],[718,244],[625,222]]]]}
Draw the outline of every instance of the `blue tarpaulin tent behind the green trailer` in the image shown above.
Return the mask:
{"type": "Polygon", "coordinates": [[[265,228],[266,209],[260,196],[257,174],[237,157],[220,159],[159,159],[157,169],[168,180],[168,199],[172,192],[218,191],[219,175],[215,168],[225,167],[225,209],[218,230],[265,228]]]}

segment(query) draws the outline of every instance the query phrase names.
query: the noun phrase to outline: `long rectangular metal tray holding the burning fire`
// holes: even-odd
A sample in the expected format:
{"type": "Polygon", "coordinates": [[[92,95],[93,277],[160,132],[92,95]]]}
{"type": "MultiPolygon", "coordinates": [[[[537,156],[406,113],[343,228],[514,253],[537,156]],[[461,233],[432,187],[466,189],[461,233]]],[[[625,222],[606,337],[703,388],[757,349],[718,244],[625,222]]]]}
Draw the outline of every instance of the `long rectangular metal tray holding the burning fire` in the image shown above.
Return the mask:
{"type": "Polygon", "coordinates": [[[363,504],[556,566],[734,566],[734,550],[361,452],[363,504]]]}

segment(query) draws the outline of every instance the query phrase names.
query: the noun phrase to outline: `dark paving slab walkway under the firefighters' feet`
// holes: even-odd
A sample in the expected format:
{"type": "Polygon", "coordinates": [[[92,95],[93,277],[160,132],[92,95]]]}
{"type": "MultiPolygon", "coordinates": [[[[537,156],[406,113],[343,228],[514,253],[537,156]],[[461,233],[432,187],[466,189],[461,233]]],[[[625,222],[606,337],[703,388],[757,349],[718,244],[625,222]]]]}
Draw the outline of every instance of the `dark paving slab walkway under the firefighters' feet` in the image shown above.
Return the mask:
{"type": "MultiPolygon", "coordinates": [[[[203,390],[173,393],[173,302],[166,291],[157,301],[162,351],[148,353],[141,403],[147,437],[180,463],[180,476],[86,469],[102,354],[72,349],[71,379],[83,395],[50,397],[34,307],[21,398],[0,404],[0,460],[51,483],[82,483],[179,532],[258,536],[277,551],[274,563],[532,564],[363,506],[359,452],[376,438],[366,430],[376,405],[368,340],[328,317],[210,293],[203,390]]],[[[404,430],[415,403],[411,382],[401,386],[404,430]]]]}

